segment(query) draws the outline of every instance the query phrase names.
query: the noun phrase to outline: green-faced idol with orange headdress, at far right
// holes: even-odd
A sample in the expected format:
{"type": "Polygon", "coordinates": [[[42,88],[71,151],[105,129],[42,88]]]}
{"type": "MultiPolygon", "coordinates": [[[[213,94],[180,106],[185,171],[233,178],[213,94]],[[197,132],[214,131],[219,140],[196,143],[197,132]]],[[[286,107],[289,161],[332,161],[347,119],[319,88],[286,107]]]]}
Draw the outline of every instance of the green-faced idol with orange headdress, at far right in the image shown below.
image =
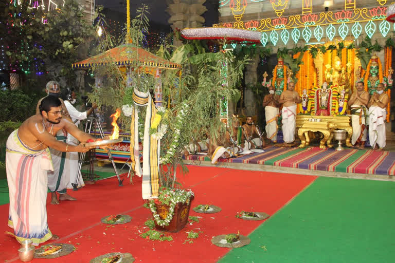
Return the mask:
{"type": "Polygon", "coordinates": [[[376,88],[379,83],[384,84],[385,90],[392,87],[393,70],[392,68],[389,68],[388,71],[388,78],[383,77],[383,69],[380,59],[376,55],[372,55],[367,66],[365,76],[364,78],[361,78],[361,81],[365,84],[365,90],[367,90],[370,95],[373,95],[373,93],[376,92],[376,88]]]}

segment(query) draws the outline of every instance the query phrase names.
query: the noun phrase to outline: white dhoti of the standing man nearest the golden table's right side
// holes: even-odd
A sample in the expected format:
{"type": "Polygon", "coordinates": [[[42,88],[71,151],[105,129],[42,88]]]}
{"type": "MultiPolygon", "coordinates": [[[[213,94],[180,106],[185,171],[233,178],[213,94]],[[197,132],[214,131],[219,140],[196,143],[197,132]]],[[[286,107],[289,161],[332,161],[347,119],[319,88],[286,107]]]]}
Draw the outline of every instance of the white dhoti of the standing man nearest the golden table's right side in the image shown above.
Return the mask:
{"type": "Polygon", "coordinates": [[[355,144],[357,141],[366,141],[366,117],[365,112],[367,109],[361,105],[351,105],[351,123],[352,123],[352,137],[351,144],[355,144]]]}

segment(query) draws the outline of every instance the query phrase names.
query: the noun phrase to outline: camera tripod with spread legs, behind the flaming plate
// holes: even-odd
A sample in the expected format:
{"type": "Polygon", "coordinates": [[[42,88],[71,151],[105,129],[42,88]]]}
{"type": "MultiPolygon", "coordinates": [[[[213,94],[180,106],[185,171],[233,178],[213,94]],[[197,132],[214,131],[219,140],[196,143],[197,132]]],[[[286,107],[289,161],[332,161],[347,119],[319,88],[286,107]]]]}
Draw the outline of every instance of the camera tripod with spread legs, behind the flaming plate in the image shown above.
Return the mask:
{"type": "MultiPolygon", "coordinates": [[[[103,129],[101,127],[101,124],[95,117],[88,117],[86,119],[85,133],[87,133],[87,134],[91,133],[92,124],[98,128],[101,138],[104,138],[104,132],[103,132],[103,129]]],[[[92,155],[94,155],[95,149],[92,149],[89,152],[91,152],[91,158],[89,158],[89,175],[93,176],[94,164],[93,164],[92,155]]],[[[115,174],[117,175],[117,178],[118,178],[119,186],[123,186],[123,184],[122,184],[123,180],[121,180],[121,178],[119,177],[118,170],[117,170],[117,167],[115,166],[114,158],[111,155],[110,149],[106,148],[106,152],[107,152],[107,155],[109,156],[109,160],[113,164],[115,174]]],[[[78,190],[77,186],[78,186],[78,181],[79,181],[80,176],[81,176],[81,168],[82,168],[82,163],[84,162],[84,159],[85,159],[85,153],[81,153],[80,157],[78,159],[78,172],[77,172],[78,174],[77,174],[77,178],[76,178],[75,183],[71,183],[71,185],[73,185],[73,191],[77,191],[78,190]]]]}

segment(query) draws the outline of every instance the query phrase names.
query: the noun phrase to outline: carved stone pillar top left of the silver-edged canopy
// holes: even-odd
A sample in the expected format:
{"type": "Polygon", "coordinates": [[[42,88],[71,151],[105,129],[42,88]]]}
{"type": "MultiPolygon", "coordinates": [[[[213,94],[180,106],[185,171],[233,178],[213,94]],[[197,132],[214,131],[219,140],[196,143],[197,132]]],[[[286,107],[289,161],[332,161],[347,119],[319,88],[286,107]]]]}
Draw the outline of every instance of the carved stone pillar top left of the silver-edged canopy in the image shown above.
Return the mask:
{"type": "MultiPolygon", "coordinates": [[[[207,11],[203,6],[206,0],[167,0],[168,8],[166,11],[171,15],[169,23],[175,30],[186,27],[201,27],[205,22],[201,16],[207,11]]],[[[175,46],[181,45],[181,42],[174,40],[175,46]]]]}

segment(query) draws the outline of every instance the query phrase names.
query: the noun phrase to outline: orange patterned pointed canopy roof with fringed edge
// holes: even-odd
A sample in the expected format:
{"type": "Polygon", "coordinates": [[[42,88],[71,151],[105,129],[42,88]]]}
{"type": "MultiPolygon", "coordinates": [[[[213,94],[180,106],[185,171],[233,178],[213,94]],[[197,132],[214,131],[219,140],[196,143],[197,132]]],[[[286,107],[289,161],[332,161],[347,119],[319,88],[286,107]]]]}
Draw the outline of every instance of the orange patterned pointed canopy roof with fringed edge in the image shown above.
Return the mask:
{"type": "Polygon", "coordinates": [[[112,63],[118,66],[133,66],[137,64],[137,60],[139,61],[139,66],[164,69],[181,68],[181,65],[160,58],[142,48],[136,48],[133,44],[120,45],[92,58],[74,63],[71,66],[73,68],[90,68],[112,63]]]}

